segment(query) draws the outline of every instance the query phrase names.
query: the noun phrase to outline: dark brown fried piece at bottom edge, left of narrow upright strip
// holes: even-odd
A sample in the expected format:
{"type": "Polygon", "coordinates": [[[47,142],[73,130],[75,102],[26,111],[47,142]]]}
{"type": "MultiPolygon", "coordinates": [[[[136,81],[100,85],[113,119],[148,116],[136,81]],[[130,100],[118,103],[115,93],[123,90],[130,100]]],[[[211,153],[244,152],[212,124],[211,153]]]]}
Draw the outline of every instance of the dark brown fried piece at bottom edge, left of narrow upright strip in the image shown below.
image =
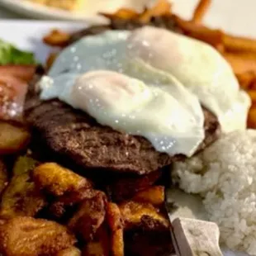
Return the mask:
{"type": "Polygon", "coordinates": [[[110,256],[109,236],[107,229],[102,225],[98,230],[96,237],[86,244],[83,249],[83,256],[110,256]]]}

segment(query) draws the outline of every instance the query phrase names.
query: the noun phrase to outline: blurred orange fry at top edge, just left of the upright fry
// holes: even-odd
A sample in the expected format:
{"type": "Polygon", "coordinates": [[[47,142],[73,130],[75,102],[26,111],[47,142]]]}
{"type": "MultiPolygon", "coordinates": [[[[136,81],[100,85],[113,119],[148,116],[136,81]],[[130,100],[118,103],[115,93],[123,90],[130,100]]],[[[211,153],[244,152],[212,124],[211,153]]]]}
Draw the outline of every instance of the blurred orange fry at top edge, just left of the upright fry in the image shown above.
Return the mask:
{"type": "Polygon", "coordinates": [[[159,0],[156,5],[150,9],[146,9],[140,15],[140,21],[148,22],[151,17],[159,17],[162,15],[168,15],[171,13],[171,3],[168,0],[159,0]]]}

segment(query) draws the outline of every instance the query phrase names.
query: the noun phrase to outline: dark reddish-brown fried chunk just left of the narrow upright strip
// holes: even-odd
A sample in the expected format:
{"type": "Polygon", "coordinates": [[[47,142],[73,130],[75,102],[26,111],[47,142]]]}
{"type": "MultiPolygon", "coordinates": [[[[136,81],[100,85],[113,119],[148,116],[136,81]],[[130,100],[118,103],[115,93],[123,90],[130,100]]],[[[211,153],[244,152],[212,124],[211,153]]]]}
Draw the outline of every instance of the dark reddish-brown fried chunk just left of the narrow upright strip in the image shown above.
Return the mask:
{"type": "Polygon", "coordinates": [[[103,192],[97,192],[95,197],[84,200],[69,220],[69,229],[86,242],[92,240],[105,219],[106,201],[103,192]]]}

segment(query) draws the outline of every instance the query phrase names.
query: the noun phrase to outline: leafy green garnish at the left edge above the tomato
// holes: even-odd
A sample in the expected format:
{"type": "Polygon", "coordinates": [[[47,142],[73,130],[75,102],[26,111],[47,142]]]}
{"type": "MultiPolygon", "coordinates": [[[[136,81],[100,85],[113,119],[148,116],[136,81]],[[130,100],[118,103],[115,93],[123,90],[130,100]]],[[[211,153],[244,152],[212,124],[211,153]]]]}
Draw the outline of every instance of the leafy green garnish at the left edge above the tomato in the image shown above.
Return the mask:
{"type": "Polygon", "coordinates": [[[0,40],[0,65],[5,64],[36,64],[36,59],[33,53],[0,40]]]}

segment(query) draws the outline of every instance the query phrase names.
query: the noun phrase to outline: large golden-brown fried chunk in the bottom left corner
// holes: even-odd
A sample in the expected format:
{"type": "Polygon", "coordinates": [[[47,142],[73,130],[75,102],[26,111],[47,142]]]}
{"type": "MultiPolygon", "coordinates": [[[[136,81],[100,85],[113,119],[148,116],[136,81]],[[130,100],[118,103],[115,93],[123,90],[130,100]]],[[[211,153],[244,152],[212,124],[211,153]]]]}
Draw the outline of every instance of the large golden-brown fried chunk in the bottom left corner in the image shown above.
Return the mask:
{"type": "Polygon", "coordinates": [[[17,217],[0,225],[0,252],[6,256],[55,255],[76,242],[54,221],[17,217]]]}

